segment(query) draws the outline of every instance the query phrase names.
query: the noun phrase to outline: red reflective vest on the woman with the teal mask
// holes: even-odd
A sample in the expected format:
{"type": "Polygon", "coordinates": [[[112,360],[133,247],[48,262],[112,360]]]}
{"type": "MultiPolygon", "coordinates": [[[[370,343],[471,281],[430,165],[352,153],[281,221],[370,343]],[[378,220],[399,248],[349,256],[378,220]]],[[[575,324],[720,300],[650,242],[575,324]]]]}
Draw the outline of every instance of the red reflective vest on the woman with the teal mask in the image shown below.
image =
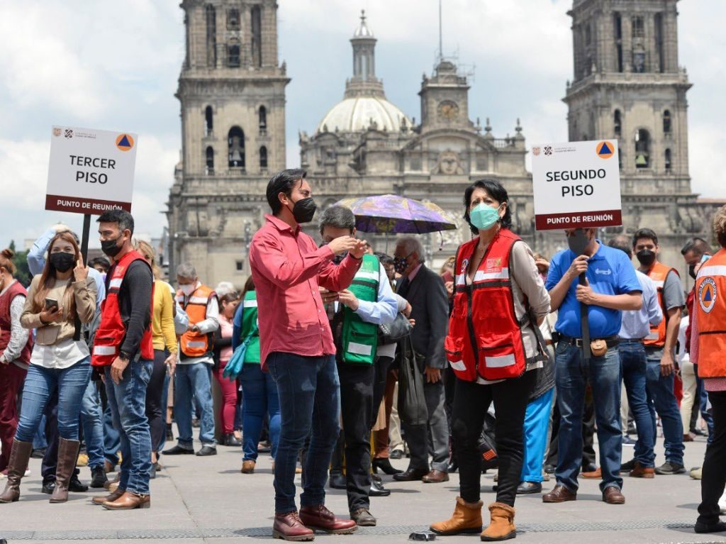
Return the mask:
{"type": "Polygon", "coordinates": [[[486,249],[471,285],[467,285],[466,276],[479,239],[457,251],[454,310],[444,349],[449,365],[464,381],[517,378],[526,370],[521,328],[529,318],[522,322],[517,319],[509,271],[512,248],[520,241],[510,230],[500,230],[486,249]]]}

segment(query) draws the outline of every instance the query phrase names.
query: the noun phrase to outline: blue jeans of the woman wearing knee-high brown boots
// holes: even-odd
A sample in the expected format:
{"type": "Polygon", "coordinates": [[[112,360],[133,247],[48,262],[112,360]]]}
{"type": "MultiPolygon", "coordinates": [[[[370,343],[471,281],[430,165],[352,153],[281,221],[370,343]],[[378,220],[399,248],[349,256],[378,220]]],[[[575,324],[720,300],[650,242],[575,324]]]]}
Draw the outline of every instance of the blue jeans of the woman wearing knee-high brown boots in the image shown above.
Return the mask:
{"type": "Polygon", "coordinates": [[[41,418],[53,392],[58,390],[58,434],[67,440],[78,440],[81,399],[91,379],[89,357],[68,368],[44,368],[30,365],[23,386],[23,405],[15,439],[33,442],[41,418]]]}

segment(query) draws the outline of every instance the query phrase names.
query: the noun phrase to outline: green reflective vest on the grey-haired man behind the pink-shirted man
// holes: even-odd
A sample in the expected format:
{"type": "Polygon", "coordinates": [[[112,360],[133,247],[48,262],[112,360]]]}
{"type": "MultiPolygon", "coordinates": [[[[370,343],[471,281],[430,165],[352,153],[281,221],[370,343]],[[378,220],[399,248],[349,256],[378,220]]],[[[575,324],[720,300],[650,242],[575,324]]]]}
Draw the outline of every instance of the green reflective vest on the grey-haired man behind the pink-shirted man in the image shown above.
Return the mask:
{"type": "MultiPolygon", "coordinates": [[[[364,255],[363,262],[348,288],[359,300],[378,301],[380,262],[375,255],[364,255]]],[[[361,319],[353,310],[343,309],[341,359],[354,365],[372,365],[378,348],[378,325],[361,319]]]]}

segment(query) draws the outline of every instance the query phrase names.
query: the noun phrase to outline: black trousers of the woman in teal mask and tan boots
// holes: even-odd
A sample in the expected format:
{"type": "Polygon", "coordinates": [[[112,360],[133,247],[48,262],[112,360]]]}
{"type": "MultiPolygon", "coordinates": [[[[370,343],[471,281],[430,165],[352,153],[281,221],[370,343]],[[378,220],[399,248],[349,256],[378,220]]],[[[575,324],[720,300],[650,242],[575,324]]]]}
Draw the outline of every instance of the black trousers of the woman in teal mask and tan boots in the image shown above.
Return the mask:
{"type": "Polygon", "coordinates": [[[522,472],[524,413],[534,388],[534,372],[492,385],[457,379],[452,414],[452,437],[459,461],[461,498],[476,503],[481,489],[481,454],[478,449],[484,415],[494,401],[494,434],[499,457],[497,502],[514,506],[522,472]]]}

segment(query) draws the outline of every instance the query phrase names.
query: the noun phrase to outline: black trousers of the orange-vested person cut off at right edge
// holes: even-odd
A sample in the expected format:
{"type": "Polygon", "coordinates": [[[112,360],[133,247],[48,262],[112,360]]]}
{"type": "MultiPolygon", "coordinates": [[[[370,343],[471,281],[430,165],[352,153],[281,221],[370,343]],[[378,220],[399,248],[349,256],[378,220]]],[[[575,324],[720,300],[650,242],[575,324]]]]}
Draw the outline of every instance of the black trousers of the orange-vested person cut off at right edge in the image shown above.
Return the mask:
{"type": "Polygon", "coordinates": [[[706,446],[701,479],[701,504],[698,521],[714,524],[719,521],[719,498],[726,485],[726,391],[709,391],[711,415],[714,419],[714,440],[706,446]]]}

